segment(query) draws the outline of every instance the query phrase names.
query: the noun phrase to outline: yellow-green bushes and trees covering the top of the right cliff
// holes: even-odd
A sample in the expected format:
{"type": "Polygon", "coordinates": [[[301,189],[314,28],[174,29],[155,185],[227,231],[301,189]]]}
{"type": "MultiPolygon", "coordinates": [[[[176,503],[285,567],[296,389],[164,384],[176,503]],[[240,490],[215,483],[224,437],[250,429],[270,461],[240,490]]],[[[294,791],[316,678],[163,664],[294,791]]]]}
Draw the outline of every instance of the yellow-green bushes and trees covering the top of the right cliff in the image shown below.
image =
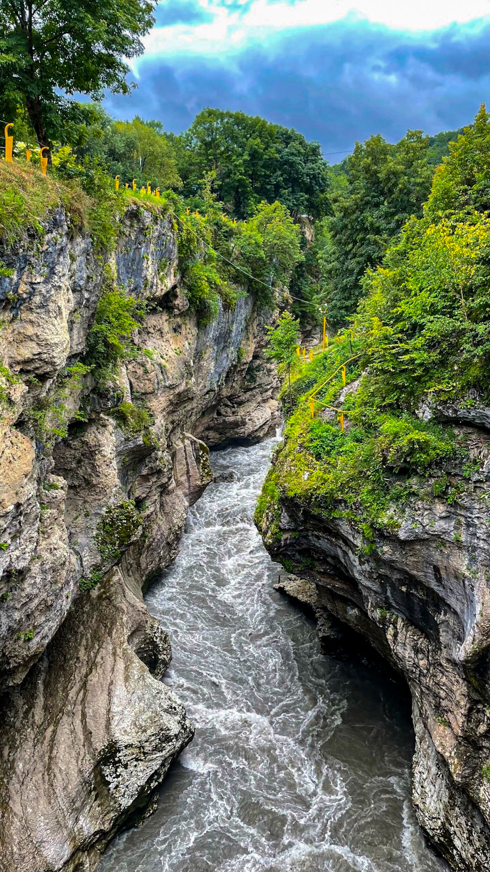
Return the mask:
{"type": "Polygon", "coordinates": [[[263,501],[272,508],[280,494],[342,517],[361,531],[366,551],[375,529],[398,526],[413,499],[460,500],[480,466],[444,414],[438,422],[438,408],[488,399],[489,142],[482,107],[450,146],[421,216],[407,221],[378,269],[367,270],[352,353],[342,336],[293,369],[295,408],[263,501]],[[351,388],[340,398],[340,371],[328,379],[349,358],[351,388]],[[344,433],[328,406],[344,410],[344,433]]]}

